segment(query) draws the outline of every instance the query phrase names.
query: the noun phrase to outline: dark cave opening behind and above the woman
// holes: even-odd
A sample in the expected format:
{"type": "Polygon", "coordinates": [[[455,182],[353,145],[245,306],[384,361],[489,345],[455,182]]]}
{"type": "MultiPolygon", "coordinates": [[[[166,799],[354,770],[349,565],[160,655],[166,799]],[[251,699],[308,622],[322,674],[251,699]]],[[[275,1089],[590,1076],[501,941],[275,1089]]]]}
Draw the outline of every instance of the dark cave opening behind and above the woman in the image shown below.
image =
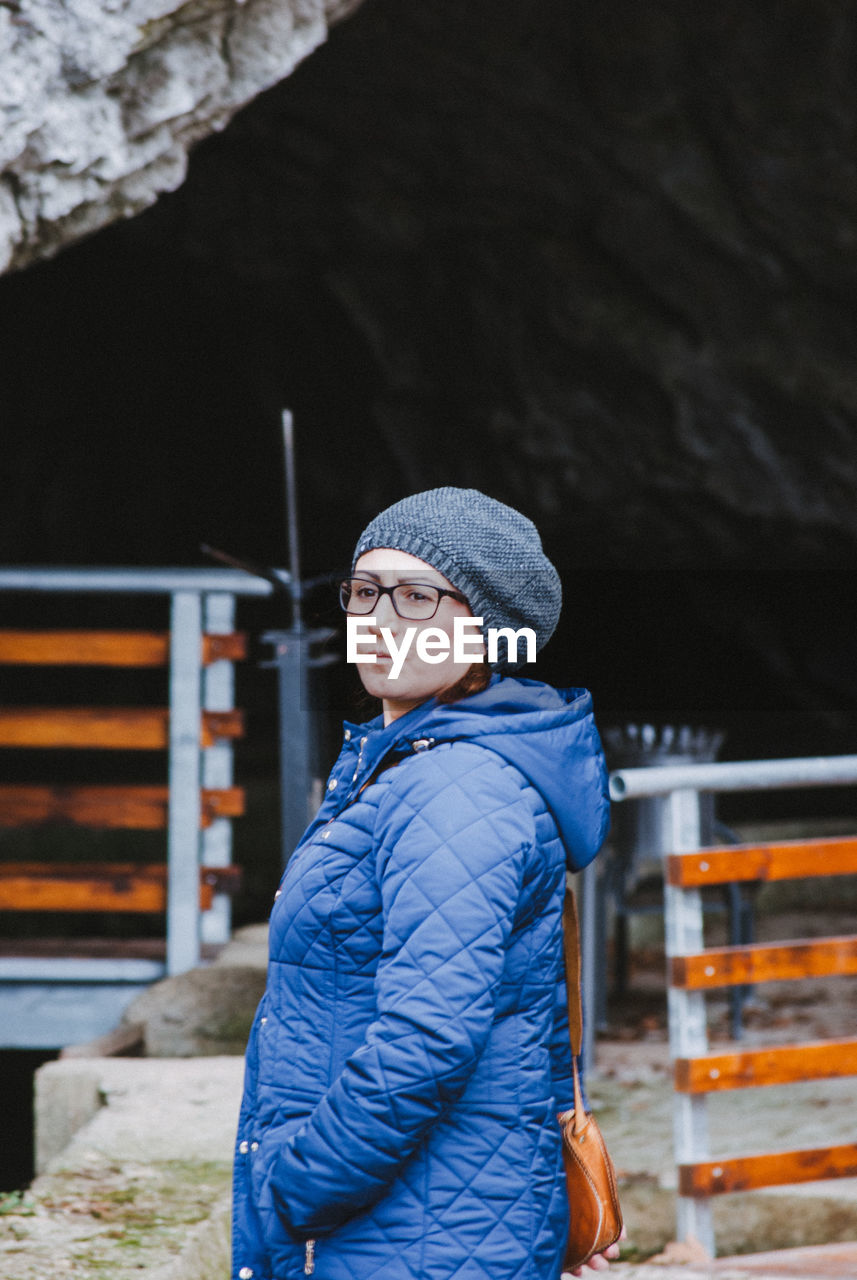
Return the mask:
{"type": "Polygon", "coordinates": [[[0,280],[0,559],[284,563],[288,406],[307,573],[475,485],[539,524],[539,673],[602,722],[853,750],[856,31],[831,0],[367,0],[179,191],[0,280]]]}

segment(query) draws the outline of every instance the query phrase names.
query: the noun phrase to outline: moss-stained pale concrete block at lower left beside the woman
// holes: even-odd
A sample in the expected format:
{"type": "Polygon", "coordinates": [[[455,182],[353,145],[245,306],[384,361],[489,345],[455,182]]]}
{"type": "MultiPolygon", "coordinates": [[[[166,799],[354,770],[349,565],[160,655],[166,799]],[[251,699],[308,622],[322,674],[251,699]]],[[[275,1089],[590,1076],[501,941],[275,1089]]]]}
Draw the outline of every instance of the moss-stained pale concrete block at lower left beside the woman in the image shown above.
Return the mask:
{"type": "Polygon", "coordinates": [[[0,1275],[223,1280],[243,1066],[240,1057],[46,1064],[36,1083],[43,1172],[4,1204],[0,1275]],[[73,1116],[86,1123],[63,1146],[73,1116]]]}

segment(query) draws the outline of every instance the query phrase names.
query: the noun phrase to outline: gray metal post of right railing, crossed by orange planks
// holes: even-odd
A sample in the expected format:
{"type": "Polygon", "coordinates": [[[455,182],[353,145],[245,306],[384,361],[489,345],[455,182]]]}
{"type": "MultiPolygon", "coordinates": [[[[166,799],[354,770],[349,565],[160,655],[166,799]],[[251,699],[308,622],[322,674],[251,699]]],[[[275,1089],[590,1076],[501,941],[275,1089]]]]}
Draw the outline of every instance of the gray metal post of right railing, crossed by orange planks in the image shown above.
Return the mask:
{"type": "MultiPolygon", "coordinates": [[[[700,847],[697,791],[673,791],[666,800],[665,820],[673,852],[684,854],[700,847]]],[[[668,960],[672,956],[692,955],[702,950],[702,897],[698,890],[682,890],[665,884],[664,922],[668,960]]],[[[670,1056],[696,1057],[706,1053],[709,1036],[702,992],[669,987],[668,1014],[670,1056]]],[[[705,1094],[673,1096],[673,1132],[677,1165],[709,1158],[709,1116],[705,1094]]],[[[677,1230],[679,1240],[693,1236],[706,1253],[714,1257],[714,1225],[711,1202],[707,1197],[678,1197],[677,1230]]]]}

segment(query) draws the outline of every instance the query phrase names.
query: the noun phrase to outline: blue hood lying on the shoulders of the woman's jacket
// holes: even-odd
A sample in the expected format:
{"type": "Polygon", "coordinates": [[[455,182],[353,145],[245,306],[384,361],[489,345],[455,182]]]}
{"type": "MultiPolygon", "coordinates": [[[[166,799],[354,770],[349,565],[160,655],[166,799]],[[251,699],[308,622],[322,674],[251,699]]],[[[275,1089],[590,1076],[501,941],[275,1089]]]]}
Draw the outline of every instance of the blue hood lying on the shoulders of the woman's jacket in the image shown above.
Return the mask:
{"type": "Polygon", "coordinates": [[[365,728],[371,742],[367,755],[375,763],[388,751],[459,739],[494,751],[541,794],[570,870],[586,867],[601,847],[610,804],[588,690],[495,675],[487,689],[462,701],[431,700],[386,727],[379,718],[365,728]]]}

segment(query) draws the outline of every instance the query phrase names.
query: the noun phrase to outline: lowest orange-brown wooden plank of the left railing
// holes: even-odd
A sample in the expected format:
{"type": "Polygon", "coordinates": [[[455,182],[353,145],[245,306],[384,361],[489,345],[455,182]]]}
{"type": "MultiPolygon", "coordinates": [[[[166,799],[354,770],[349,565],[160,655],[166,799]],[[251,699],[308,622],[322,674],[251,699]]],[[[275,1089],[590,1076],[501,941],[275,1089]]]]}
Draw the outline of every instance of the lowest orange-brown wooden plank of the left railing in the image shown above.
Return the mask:
{"type": "MultiPolygon", "coordinates": [[[[240,868],[200,868],[200,905],[235,892],[240,868]]],[[[1,911],[166,910],[165,863],[0,863],[1,911]]]]}

